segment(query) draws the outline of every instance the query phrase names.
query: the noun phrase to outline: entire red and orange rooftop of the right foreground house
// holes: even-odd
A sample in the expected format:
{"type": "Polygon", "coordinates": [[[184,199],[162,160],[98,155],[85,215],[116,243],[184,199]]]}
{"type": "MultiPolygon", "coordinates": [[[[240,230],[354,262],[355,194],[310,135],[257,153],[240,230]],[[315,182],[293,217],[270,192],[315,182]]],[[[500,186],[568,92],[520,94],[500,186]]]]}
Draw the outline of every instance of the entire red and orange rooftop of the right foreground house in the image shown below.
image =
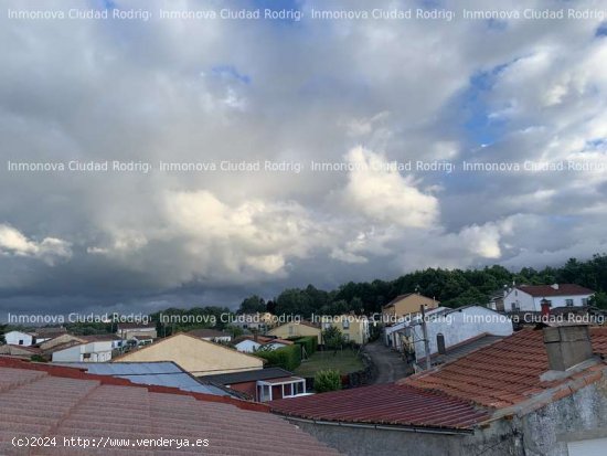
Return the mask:
{"type": "MultiPolygon", "coordinates": [[[[590,328],[593,351],[607,356],[607,327],[590,328]]],[[[382,384],[269,402],[287,416],[354,425],[398,425],[470,431],[511,406],[540,407],[607,374],[588,360],[565,377],[543,381],[549,360],[541,330],[523,329],[455,361],[382,384]],[[545,394],[541,394],[545,393],[545,394]],[[529,402],[525,402],[529,401],[529,402]]]]}

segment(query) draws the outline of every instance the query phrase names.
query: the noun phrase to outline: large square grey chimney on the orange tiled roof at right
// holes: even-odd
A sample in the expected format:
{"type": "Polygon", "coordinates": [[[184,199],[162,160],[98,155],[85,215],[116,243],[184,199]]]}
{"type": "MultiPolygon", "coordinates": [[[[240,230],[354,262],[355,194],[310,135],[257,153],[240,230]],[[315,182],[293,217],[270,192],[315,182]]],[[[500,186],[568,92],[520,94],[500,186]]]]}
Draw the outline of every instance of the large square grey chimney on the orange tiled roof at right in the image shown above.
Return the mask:
{"type": "Polygon", "coordinates": [[[593,356],[590,332],[585,325],[544,328],[544,346],[553,371],[566,371],[593,356]]]}

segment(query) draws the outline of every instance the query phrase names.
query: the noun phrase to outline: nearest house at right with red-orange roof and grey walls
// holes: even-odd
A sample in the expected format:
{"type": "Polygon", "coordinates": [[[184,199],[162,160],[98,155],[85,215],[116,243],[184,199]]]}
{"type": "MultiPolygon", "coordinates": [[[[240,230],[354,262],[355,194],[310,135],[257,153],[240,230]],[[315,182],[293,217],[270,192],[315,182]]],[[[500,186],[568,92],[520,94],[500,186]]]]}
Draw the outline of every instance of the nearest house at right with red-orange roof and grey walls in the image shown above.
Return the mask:
{"type": "Polygon", "coordinates": [[[522,329],[396,383],[269,406],[351,456],[603,455],[605,357],[606,327],[522,329]]]}

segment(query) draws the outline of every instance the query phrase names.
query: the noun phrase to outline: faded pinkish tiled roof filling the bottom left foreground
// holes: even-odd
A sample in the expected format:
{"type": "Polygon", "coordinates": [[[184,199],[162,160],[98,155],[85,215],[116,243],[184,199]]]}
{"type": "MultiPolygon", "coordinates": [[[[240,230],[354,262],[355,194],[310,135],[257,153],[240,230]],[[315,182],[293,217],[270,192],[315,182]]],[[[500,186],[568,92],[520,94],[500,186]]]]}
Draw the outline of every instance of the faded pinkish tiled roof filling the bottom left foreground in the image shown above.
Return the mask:
{"type": "Polygon", "coordinates": [[[136,386],[126,380],[14,360],[0,360],[0,410],[2,455],[30,454],[12,446],[10,441],[15,436],[60,437],[60,446],[38,448],[36,455],[201,454],[201,448],[178,450],[174,446],[128,446],[111,450],[63,447],[62,437],[73,436],[207,438],[210,445],[202,449],[209,455],[338,454],[287,421],[266,413],[267,409],[259,404],[172,389],[136,386]]]}

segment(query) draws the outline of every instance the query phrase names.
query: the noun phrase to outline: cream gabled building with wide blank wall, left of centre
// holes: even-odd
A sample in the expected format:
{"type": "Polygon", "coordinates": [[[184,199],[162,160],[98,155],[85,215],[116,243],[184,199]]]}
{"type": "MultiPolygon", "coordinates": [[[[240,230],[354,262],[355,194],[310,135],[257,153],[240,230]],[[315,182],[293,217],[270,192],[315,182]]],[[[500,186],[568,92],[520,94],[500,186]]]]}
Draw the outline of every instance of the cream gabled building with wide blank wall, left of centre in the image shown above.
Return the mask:
{"type": "Polygon", "coordinates": [[[156,343],[129,351],[113,362],[172,361],[192,375],[253,371],[264,367],[262,358],[179,332],[156,343]]]}

